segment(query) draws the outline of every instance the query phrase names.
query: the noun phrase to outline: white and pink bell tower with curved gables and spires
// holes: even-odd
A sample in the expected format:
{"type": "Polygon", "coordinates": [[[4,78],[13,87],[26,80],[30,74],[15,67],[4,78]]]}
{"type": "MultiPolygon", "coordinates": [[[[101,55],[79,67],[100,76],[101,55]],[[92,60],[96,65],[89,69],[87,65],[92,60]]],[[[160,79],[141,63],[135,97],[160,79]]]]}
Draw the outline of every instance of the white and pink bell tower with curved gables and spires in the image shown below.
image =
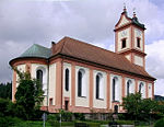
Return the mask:
{"type": "Polygon", "coordinates": [[[124,55],[130,62],[145,68],[144,25],[138,21],[136,12],[129,18],[127,9],[115,25],[115,53],[124,55]]]}

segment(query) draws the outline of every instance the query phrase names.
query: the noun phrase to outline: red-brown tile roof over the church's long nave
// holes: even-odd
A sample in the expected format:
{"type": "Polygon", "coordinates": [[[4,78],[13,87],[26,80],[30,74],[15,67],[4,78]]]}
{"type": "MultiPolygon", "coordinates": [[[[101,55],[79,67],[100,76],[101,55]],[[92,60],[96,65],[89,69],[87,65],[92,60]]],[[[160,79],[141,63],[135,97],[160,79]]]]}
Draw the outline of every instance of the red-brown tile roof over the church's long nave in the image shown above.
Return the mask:
{"type": "Polygon", "coordinates": [[[131,64],[122,55],[81,41],[63,37],[54,48],[52,56],[61,54],[155,80],[142,67],[131,64]]]}

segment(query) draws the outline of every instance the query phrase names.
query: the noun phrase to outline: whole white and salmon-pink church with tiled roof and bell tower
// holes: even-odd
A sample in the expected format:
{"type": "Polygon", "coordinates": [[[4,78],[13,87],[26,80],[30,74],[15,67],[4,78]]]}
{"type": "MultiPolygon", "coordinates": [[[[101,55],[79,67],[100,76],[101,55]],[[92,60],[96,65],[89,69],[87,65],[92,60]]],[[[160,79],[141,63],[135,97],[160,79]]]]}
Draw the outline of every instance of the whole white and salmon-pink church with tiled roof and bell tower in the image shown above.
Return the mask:
{"type": "MultiPolygon", "coordinates": [[[[11,67],[30,71],[42,82],[42,109],[56,113],[124,113],[122,97],[140,92],[154,97],[154,81],[145,70],[144,25],[126,8],[115,25],[115,53],[63,37],[47,48],[32,45],[10,61],[11,67]]],[[[12,101],[15,101],[17,74],[13,71],[12,101]]]]}

